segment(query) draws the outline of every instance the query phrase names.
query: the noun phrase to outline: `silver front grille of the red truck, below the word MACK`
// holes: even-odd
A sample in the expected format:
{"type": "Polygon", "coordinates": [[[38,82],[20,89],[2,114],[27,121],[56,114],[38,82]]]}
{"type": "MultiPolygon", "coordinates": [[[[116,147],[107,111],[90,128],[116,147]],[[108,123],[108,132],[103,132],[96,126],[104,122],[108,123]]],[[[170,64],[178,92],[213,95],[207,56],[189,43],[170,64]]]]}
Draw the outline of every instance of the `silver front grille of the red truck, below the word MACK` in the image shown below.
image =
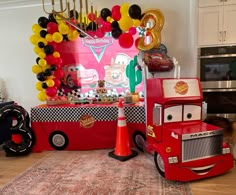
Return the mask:
{"type": "Polygon", "coordinates": [[[182,162],[222,154],[223,135],[221,133],[213,136],[208,134],[206,137],[193,137],[195,136],[185,135],[185,139],[182,138],[182,162]]]}

